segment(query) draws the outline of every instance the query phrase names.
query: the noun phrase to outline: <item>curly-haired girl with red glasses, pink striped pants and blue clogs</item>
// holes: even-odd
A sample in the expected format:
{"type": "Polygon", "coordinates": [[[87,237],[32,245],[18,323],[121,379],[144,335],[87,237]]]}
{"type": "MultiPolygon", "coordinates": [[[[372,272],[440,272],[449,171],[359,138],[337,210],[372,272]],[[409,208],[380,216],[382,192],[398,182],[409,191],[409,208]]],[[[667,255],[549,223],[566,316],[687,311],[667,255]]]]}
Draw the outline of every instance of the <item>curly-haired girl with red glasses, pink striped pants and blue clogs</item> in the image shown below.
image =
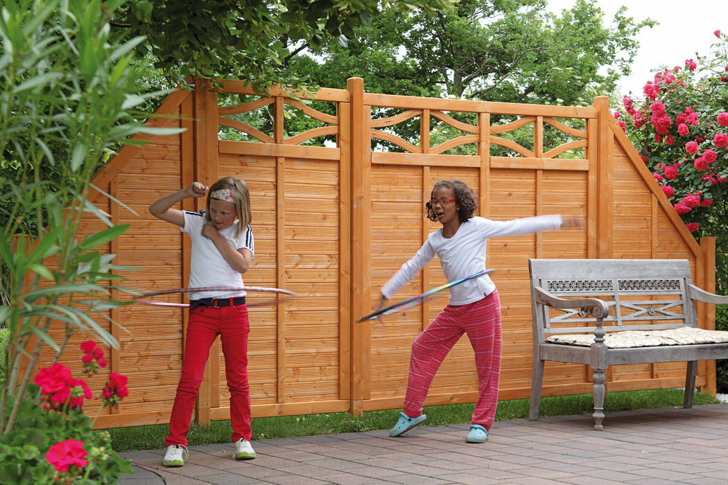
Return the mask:
{"type": "MultiPolygon", "coordinates": [[[[443,227],[430,233],[414,257],[382,286],[377,309],[383,308],[392,294],[414,278],[435,254],[440,258],[447,280],[455,281],[486,268],[488,238],[584,227],[582,219],[562,220],[559,215],[505,221],[473,217],[478,207],[477,199],[470,187],[460,180],[435,183],[425,207],[427,218],[438,221],[443,227]]],[[[496,286],[487,274],[452,286],[449,304],[414,340],[404,409],[389,436],[400,436],[427,418],[422,414],[427,390],[443,359],[464,333],[475,351],[478,370],[478,401],[465,441],[486,441],[496,414],[501,361],[500,301],[496,286]]]]}

